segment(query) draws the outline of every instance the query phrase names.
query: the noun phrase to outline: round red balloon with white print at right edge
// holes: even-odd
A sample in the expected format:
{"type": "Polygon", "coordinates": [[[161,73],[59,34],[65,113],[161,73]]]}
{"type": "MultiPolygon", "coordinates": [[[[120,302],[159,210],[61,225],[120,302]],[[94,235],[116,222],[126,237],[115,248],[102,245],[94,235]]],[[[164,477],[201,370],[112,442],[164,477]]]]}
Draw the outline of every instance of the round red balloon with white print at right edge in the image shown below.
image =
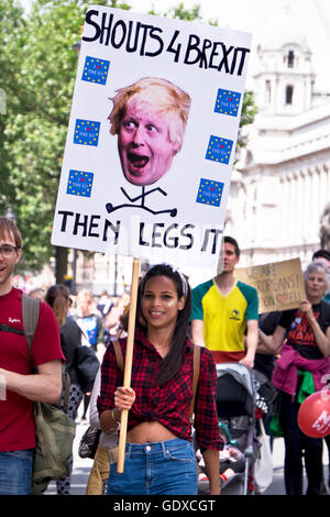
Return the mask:
{"type": "Polygon", "coordinates": [[[300,430],[311,438],[330,435],[330,389],[322,389],[309,395],[298,411],[300,430]]]}

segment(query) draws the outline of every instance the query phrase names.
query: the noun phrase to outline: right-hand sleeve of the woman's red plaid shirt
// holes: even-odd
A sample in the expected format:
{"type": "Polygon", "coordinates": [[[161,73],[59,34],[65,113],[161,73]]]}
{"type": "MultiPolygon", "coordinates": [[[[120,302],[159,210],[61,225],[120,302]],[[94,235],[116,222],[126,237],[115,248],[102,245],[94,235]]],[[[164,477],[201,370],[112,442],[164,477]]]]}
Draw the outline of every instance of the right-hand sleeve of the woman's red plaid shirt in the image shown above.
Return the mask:
{"type": "Polygon", "coordinates": [[[200,350],[200,372],[195,402],[196,439],[200,450],[223,449],[219,436],[216,404],[217,371],[211,352],[205,346],[200,350]]]}

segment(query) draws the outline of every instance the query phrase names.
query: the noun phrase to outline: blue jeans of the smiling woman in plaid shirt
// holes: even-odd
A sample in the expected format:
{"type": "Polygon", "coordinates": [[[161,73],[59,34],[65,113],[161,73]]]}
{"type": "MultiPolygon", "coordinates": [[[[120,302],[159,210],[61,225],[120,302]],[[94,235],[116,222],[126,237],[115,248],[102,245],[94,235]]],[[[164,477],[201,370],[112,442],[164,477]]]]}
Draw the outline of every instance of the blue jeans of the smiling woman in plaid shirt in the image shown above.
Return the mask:
{"type": "Polygon", "coordinates": [[[198,476],[190,442],[175,438],[127,443],[124,472],[111,465],[107,495],[196,495],[198,476]]]}

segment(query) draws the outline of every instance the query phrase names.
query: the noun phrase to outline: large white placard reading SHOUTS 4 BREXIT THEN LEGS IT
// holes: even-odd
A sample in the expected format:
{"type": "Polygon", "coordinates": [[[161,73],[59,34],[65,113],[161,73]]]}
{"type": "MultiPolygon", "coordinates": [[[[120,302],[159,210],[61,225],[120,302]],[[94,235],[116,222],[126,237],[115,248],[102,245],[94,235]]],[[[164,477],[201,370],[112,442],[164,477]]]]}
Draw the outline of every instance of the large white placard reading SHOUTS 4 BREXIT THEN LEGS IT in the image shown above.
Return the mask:
{"type": "Polygon", "coordinates": [[[251,35],[91,6],[52,243],[217,264],[251,35]]]}

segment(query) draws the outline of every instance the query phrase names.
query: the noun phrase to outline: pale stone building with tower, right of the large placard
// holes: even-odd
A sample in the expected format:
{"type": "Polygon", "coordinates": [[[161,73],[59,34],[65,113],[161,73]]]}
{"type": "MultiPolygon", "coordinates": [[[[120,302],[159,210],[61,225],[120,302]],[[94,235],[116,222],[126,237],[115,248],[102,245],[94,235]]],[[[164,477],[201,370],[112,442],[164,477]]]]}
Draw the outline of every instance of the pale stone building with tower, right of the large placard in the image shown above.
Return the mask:
{"type": "Polygon", "coordinates": [[[330,97],[293,26],[271,34],[257,55],[258,114],[233,170],[226,233],[240,242],[242,266],[297,256],[306,265],[330,200],[330,97]]]}

